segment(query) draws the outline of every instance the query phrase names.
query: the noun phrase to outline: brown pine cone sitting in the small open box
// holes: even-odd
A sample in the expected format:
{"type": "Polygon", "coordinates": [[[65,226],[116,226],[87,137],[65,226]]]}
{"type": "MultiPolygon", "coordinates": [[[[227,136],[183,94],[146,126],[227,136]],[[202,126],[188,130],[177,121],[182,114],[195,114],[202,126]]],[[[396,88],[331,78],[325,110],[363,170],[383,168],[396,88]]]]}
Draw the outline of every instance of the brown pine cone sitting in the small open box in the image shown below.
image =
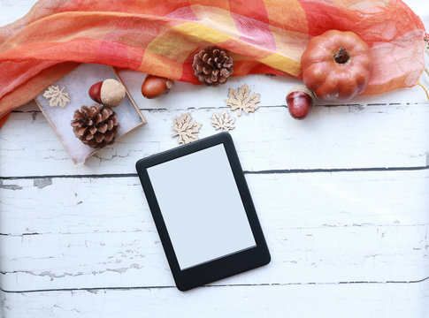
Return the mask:
{"type": "Polygon", "coordinates": [[[92,148],[111,145],[119,134],[116,113],[97,103],[89,108],[83,105],[80,110],[75,110],[71,124],[76,137],[92,148]]]}

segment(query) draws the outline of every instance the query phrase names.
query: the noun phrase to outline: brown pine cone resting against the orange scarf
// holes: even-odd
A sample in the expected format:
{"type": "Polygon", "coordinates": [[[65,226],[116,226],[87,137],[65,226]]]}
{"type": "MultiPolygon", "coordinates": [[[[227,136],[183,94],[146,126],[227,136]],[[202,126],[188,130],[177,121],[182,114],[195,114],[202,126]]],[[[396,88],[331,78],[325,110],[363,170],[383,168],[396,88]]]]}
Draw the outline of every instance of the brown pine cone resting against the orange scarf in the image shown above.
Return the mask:
{"type": "Polygon", "coordinates": [[[194,56],[192,68],[198,80],[208,86],[226,83],[234,71],[234,60],[226,50],[211,46],[200,50],[194,56]]]}

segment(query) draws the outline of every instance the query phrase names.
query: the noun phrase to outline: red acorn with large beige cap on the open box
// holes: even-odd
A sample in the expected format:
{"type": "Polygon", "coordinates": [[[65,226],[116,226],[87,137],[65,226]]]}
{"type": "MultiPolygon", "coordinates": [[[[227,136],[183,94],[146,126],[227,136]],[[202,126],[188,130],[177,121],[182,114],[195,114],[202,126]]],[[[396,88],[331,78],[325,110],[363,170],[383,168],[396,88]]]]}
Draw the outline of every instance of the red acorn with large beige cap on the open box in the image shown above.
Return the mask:
{"type": "Polygon", "coordinates": [[[104,79],[89,87],[89,97],[107,107],[117,107],[126,96],[125,87],[116,79],[104,79]]]}

